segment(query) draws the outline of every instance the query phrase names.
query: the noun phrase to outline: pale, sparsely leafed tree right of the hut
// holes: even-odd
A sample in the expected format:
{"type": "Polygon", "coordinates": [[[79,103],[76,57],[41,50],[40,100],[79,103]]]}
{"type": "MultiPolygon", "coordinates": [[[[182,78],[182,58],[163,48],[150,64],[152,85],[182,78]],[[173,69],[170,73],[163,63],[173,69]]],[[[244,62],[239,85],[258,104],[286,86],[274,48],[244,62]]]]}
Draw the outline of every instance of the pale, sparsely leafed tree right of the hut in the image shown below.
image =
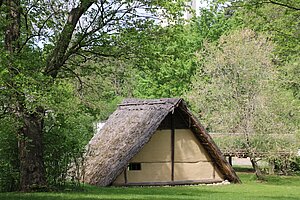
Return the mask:
{"type": "Polygon", "coordinates": [[[207,43],[199,53],[204,64],[188,94],[207,129],[243,135],[244,148],[258,178],[262,173],[256,153],[274,145],[268,135],[278,130],[295,134],[299,128],[287,128],[288,123],[280,117],[287,110],[275,111],[283,105],[273,96],[279,94],[273,49],[266,37],[248,29],[224,35],[217,44],[207,43]]]}

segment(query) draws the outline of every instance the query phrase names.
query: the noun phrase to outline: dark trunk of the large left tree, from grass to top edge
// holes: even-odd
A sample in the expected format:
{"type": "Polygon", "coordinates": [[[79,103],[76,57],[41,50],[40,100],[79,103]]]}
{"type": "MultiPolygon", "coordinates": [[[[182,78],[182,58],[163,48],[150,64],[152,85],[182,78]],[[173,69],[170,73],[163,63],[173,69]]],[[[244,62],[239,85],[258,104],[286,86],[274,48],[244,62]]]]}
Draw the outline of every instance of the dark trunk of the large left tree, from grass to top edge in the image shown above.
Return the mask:
{"type": "Polygon", "coordinates": [[[16,116],[22,121],[22,127],[19,129],[19,159],[20,159],[20,190],[31,191],[46,186],[46,173],[43,164],[42,148],[42,128],[43,113],[42,109],[34,113],[29,113],[24,106],[25,94],[22,90],[16,90],[18,86],[14,83],[14,77],[18,76],[20,70],[14,64],[13,56],[18,53],[20,47],[20,30],[21,30],[21,1],[4,0],[6,6],[5,16],[7,24],[4,31],[5,50],[10,55],[7,68],[12,77],[8,84],[13,91],[16,91],[17,109],[16,116]]]}

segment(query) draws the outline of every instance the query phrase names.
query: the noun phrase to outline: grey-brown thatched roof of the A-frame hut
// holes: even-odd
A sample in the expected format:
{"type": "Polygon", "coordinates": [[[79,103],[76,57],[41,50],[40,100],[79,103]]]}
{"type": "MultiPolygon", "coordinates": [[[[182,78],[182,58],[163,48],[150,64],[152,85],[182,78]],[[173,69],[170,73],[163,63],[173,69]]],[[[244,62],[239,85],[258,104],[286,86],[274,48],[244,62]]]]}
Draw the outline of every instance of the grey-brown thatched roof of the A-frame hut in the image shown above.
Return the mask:
{"type": "Polygon", "coordinates": [[[179,109],[225,179],[240,182],[209,134],[179,98],[124,100],[89,143],[84,182],[110,185],[150,140],[164,118],[175,109],[179,109]]]}

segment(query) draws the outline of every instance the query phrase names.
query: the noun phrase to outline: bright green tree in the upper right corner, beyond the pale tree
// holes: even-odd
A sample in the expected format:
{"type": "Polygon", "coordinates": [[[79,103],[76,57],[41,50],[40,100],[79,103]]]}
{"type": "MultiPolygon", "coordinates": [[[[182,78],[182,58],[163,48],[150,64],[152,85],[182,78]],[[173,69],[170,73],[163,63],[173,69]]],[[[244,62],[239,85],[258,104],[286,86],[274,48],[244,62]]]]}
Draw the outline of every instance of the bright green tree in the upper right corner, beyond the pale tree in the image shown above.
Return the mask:
{"type": "Polygon", "coordinates": [[[213,5],[226,7],[224,12],[231,13],[240,27],[248,27],[266,34],[276,43],[276,66],[280,68],[282,84],[299,98],[299,17],[300,2],[297,0],[239,0],[213,1],[213,5]],[[224,5],[224,2],[227,2],[224,5]],[[228,3],[230,2],[230,3],[228,3]],[[291,64],[293,63],[293,64],[291,64]]]}

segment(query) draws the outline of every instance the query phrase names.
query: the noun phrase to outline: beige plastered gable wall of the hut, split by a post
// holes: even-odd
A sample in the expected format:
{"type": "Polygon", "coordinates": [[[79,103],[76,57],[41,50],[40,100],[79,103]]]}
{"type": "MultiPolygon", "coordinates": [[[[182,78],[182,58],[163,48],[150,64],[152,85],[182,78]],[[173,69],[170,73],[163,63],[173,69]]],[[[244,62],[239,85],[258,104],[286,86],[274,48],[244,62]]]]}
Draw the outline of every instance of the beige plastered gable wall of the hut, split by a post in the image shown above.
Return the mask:
{"type": "MultiPolygon", "coordinates": [[[[221,173],[191,130],[175,129],[174,140],[174,182],[223,180],[221,173]]],[[[171,130],[157,130],[130,162],[141,163],[142,169],[125,169],[113,185],[172,182],[171,130]]]]}

